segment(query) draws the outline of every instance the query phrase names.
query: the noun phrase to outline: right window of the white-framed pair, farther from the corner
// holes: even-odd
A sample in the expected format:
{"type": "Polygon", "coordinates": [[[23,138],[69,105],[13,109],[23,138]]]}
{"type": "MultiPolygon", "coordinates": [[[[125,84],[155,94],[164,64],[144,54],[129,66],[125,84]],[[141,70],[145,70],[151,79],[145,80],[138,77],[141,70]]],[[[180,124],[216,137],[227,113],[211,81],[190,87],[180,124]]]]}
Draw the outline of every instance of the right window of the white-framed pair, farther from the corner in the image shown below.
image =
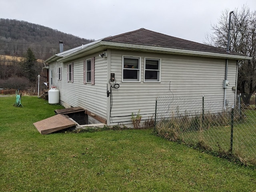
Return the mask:
{"type": "Polygon", "coordinates": [[[144,81],[160,82],[160,59],[145,58],[144,62],[144,81]]]}

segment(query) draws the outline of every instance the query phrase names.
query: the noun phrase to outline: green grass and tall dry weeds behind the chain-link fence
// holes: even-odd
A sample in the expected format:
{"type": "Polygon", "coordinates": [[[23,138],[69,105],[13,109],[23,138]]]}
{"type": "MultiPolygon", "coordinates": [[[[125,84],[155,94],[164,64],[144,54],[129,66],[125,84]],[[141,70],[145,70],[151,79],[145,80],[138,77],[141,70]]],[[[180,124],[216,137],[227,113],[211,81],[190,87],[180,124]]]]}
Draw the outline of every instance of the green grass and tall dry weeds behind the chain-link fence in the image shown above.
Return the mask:
{"type": "Polygon", "coordinates": [[[256,111],[234,110],[231,149],[231,112],[178,116],[157,122],[156,132],[171,141],[202,148],[218,156],[256,166],[256,111]]]}

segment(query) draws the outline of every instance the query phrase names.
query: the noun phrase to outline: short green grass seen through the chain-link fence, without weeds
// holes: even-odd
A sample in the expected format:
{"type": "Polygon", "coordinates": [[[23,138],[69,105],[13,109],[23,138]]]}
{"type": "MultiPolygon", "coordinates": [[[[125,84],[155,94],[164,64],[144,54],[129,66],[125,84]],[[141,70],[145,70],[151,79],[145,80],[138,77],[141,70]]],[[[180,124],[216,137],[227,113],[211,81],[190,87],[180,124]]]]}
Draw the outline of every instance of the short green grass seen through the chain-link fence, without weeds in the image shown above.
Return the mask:
{"type": "MultiPolygon", "coordinates": [[[[242,162],[256,165],[256,111],[244,110],[246,118],[234,122],[233,153],[242,162]]],[[[190,145],[196,145],[200,140],[215,152],[230,150],[231,126],[213,126],[203,131],[184,131],[182,139],[190,145]]]]}

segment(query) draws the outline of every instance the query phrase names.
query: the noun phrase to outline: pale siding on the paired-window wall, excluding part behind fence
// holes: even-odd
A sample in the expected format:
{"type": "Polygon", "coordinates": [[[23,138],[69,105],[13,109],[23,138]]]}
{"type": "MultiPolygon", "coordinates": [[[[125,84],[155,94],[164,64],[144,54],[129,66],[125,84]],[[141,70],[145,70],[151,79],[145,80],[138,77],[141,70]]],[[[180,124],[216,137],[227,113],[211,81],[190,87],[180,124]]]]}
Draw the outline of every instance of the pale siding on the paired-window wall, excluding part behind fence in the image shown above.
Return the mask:
{"type": "MultiPolygon", "coordinates": [[[[140,110],[142,122],[154,118],[156,97],[189,95],[224,95],[225,59],[193,56],[150,54],[112,50],[111,72],[115,73],[118,89],[112,88],[111,125],[131,123],[131,114],[140,110]],[[141,79],[144,79],[145,58],[161,59],[161,82],[122,83],[122,56],[141,57],[141,79]]],[[[229,60],[227,94],[234,94],[236,61],[229,60]]]]}

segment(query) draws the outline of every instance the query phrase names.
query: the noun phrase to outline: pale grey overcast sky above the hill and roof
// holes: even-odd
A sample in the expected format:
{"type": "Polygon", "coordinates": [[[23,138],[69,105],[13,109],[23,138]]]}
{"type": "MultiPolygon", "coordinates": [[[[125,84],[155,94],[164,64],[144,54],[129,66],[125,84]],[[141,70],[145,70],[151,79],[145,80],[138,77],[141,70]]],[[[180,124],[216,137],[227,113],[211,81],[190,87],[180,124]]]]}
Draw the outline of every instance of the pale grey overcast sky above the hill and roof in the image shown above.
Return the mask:
{"type": "Polygon", "coordinates": [[[256,10],[256,0],[0,0],[0,18],[95,40],[145,28],[202,43],[222,11],[243,5],[256,10]]]}

